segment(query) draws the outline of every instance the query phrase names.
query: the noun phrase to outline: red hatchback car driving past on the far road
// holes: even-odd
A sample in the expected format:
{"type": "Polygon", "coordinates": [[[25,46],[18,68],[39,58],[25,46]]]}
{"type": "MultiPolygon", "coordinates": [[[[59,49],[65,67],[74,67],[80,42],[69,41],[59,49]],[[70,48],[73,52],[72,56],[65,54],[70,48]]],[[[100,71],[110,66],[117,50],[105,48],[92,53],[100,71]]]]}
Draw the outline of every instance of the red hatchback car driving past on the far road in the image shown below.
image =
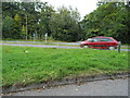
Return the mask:
{"type": "Polygon", "coordinates": [[[112,37],[93,37],[82,41],[80,47],[114,50],[117,49],[118,41],[112,37]]]}

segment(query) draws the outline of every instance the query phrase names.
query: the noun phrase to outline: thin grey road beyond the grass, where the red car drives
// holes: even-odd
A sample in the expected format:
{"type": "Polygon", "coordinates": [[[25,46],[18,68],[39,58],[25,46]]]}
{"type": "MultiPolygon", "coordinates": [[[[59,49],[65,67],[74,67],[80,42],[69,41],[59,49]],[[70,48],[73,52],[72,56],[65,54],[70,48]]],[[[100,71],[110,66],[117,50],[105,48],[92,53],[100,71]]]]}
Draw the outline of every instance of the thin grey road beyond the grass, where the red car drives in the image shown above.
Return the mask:
{"type": "MultiPolygon", "coordinates": [[[[72,46],[54,46],[54,45],[24,45],[24,44],[0,44],[8,46],[24,46],[24,47],[42,47],[42,48],[64,48],[64,49],[81,49],[80,47],[72,46]]],[[[120,49],[121,51],[130,51],[130,49],[120,49]]]]}

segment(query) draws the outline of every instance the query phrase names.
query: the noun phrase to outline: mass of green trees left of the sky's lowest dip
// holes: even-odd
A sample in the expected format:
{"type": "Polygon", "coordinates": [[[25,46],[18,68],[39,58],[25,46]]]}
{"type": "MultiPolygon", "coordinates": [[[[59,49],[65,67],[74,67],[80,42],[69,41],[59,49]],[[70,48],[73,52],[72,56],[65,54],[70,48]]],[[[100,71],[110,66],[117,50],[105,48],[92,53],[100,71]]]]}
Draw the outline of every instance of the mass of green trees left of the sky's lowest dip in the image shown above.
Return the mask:
{"type": "Polygon", "coordinates": [[[3,35],[3,38],[21,39],[26,36],[26,39],[31,39],[35,33],[38,39],[43,39],[48,33],[49,37],[58,40],[75,41],[79,39],[79,13],[77,9],[73,10],[70,8],[68,10],[64,8],[58,9],[56,12],[53,7],[47,2],[3,2],[2,8],[4,20],[3,34],[6,34],[6,36],[3,35]],[[57,14],[58,12],[61,14],[57,14]],[[58,15],[58,19],[55,17],[55,15],[58,15]],[[10,26],[11,28],[6,30],[5,25],[11,25],[8,24],[9,22],[5,22],[6,16],[13,20],[12,24],[15,24],[15,26],[18,27],[17,29],[12,25],[10,26]],[[60,23],[61,21],[62,23],[60,23]],[[54,28],[54,26],[60,27],[54,28]],[[10,30],[12,30],[14,35],[12,35],[10,30]],[[11,36],[8,36],[8,34],[11,36]]]}

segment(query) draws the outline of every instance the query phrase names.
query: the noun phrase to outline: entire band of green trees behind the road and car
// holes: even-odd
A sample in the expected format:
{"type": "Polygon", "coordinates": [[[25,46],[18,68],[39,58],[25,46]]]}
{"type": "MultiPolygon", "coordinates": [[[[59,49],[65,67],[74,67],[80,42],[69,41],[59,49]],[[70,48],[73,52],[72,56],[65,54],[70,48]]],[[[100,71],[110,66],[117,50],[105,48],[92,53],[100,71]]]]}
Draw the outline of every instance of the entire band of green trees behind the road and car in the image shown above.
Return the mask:
{"type": "Polygon", "coordinates": [[[99,2],[98,9],[80,21],[77,9],[57,10],[48,2],[2,2],[3,39],[78,41],[94,36],[110,36],[130,44],[130,2],[99,2]]]}

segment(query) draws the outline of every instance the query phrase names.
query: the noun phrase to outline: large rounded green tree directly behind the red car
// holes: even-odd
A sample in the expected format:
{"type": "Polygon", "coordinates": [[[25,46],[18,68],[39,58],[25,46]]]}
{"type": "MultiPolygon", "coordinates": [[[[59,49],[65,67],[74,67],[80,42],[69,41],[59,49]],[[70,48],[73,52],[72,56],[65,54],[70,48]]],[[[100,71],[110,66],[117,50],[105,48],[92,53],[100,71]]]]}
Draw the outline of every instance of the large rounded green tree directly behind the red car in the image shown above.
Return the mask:
{"type": "Polygon", "coordinates": [[[86,38],[93,36],[112,36],[128,44],[128,7],[123,2],[109,2],[100,4],[82,21],[86,38]]]}

